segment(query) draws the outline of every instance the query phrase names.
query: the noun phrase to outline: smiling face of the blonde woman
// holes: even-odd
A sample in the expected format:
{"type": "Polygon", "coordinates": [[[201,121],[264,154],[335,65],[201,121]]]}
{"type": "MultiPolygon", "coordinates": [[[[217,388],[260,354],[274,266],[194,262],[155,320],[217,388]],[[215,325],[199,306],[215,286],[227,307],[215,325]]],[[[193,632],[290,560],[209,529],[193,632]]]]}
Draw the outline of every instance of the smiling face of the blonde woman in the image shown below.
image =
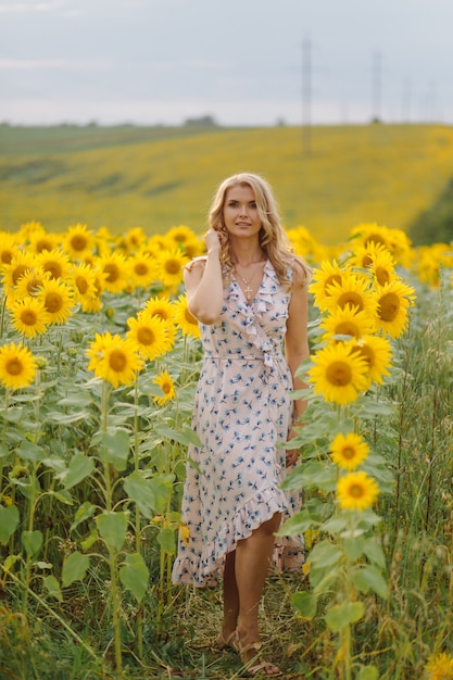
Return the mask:
{"type": "Polygon", "coordinates": [[[225,194],[224,222],[229,236],[256,237],[262,227],[255,194],[249,186],[230,187],[225,194]]]}

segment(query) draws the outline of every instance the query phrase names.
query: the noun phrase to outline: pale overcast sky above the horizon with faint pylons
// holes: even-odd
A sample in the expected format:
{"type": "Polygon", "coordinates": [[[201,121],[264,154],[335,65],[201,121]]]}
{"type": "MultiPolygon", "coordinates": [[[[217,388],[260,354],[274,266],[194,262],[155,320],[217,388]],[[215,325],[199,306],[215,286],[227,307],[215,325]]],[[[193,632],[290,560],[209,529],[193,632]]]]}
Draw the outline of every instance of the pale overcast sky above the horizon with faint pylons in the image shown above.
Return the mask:
{"type": "Polygon", "coordinates": [[[453,123],[453,0],[0,0],[0,121],[453,123]]]}

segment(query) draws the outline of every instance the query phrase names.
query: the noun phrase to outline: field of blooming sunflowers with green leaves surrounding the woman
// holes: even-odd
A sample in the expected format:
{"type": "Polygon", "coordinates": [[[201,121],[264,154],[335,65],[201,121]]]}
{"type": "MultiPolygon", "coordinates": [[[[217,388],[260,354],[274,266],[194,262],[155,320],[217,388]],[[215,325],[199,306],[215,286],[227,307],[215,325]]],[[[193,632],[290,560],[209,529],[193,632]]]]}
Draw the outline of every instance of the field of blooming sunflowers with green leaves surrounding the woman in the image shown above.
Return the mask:
{"type": "MultiPolygon", "coordinates": [[[[453,679],[453,242],[378,224],[313,268],[302,489],[260,616],[286,678],[453,679]]],[[[199,328],[187,226],[0,240],[0,678],[237,678],[219,593],[173,587],[199,328]]]]}

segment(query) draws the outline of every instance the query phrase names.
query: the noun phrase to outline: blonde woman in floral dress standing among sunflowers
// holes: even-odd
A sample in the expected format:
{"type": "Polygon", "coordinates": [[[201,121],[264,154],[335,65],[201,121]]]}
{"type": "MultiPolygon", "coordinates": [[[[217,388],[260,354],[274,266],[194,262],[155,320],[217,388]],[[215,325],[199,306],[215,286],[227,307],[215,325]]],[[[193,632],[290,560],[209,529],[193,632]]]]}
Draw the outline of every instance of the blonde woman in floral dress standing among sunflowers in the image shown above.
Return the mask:
{"type": "MultiPolygon", "coordinates": [[[[222,182],[204,240],[207,255],[185,270],[204,363],[193,412],[201,446],[189,451],[196,465],[187,468],[181,512],[189,539],[179,540],[173,580],[214,585],[223,575],[217,645],[237,650],[250,673],[276,676],[279,669],[259,657],[257,614],[274,534],[300,504],[279,489],[297,451],[278,444],[294,436],[304,411],[290,391],[302,387],[295,370],[309,356],[310,270],[289,248],[257,175],[222,182]]],[[[293,564],[301,551],[286,539],[293,564]]]]}

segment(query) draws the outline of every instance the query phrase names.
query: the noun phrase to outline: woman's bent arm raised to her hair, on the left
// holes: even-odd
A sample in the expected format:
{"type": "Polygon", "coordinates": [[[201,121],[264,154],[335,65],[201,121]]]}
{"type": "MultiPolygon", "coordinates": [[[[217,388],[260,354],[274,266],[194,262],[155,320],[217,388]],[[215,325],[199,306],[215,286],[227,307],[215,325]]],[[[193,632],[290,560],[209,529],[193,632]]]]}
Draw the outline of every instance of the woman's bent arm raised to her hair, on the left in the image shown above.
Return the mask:
{"type": "Polygon", "coordinates": [[[213,229],[207,231],[204,241],[207,257],[185,269],[184,282],[190,313],[202,324],[211,325],[218,319],[224,303],[221,242],[213,229]]]}

